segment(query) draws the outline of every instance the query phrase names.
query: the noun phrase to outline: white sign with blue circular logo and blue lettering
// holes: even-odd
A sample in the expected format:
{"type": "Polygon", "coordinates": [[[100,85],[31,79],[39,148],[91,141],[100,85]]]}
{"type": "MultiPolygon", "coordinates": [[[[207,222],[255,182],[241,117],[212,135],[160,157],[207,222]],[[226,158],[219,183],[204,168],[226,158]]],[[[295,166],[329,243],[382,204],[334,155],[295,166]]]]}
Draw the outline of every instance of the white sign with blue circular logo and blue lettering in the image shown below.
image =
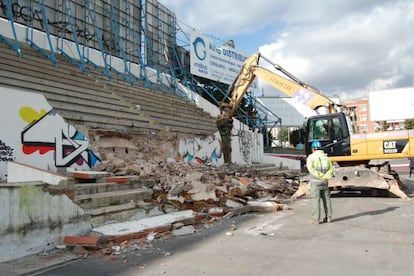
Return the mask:
{"type": "MultiPolygon", "coordinates": [[[[232,84],[240,72],[246,56],[224,45],[216,45],[207,36],[195,31],[190,36],[191,74],[232,84]]],[[[257,87],[257,83],[252,85],[257,87]]]]}

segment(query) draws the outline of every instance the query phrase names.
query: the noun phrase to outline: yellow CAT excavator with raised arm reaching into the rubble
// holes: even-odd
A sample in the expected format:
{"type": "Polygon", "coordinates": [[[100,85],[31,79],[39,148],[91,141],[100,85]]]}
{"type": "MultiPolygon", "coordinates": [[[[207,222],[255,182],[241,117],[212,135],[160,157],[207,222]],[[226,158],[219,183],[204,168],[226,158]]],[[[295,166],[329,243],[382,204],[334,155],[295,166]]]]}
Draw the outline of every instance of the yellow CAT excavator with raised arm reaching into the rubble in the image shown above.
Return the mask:
{"type": "MultiPolygon", "coordinates": [[[[349,109],[300,81],[260,53],[244,61],[229,87],[229,97],[219,104],[217,128],[225,164],[231,164],[233,113],[256,77],[317,112],[318,115],[307,118],[305,122],[305,153],[306,156],[311,153],[313,141],[321,143],[324,152],[336,166],[335,176],[329,181],[331,190],[377,190],[401,199],[410,199],[403,192],[404,185],[388,160],[414,157],[414,130],[355,133],[349,109]],[[269,62],[276,72],[259,65],[261,59],[269,62]],[[326,111],[321,114],[321,109],[326,111]]],[[[309,183],[304,180],[292,197],[299,198],[307,193],[309,183]]]]}

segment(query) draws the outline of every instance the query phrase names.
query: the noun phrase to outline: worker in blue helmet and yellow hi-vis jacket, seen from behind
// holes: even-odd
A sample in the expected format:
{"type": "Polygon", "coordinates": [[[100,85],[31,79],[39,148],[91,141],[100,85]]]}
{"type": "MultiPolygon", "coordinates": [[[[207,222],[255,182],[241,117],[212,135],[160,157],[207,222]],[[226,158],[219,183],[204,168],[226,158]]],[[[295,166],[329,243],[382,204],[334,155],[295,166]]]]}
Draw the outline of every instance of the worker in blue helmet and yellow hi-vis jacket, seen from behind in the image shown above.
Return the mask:
{"type": "Polygon", "coordinates": [[[325,218],[323,222],[332,221],[332,203],[328,181],[334,175],[331,160],[322,150],[319,141],[313,141],[312,153],[306,159],[306,166],[310,173],[310,185],[312,195],[312,221],[313,224],[320,223],[320,200],[322,199],[325,218]]]}

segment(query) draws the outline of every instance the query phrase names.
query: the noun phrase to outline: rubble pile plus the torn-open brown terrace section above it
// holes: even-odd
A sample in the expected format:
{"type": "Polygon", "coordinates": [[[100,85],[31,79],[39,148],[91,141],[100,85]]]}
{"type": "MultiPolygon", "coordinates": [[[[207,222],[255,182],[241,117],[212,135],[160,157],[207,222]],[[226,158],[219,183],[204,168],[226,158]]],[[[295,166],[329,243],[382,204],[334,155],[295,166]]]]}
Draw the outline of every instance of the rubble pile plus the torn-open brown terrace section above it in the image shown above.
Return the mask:
{"type": "MultiPolygon", "coordinates": [[[[246,206],[252,201],[281,203],[299,187],[299,171],[274,165],[207,166],[181,162],[171,149],[179,139],[172,133],[119,133],[91,130],[91,145],[102,163],[94,168],[115,176],[136,176],[153,191],[153,203],[165,210],[246,206]]],[[[256,207],[258,208],[258,207],[256,207]]]]}

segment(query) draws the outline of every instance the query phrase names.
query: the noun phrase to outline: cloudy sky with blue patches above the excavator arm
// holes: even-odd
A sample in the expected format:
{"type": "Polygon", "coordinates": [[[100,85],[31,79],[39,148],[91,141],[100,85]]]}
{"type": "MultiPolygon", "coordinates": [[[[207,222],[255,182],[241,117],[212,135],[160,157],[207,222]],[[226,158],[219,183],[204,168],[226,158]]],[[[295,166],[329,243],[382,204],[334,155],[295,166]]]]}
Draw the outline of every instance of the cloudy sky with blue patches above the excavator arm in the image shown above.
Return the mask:
{"type": "Polygon", "coordinates": [[[414,86],[413,0],[161,0],[182,26],[260,51],[341,101],[414,86]]]}

